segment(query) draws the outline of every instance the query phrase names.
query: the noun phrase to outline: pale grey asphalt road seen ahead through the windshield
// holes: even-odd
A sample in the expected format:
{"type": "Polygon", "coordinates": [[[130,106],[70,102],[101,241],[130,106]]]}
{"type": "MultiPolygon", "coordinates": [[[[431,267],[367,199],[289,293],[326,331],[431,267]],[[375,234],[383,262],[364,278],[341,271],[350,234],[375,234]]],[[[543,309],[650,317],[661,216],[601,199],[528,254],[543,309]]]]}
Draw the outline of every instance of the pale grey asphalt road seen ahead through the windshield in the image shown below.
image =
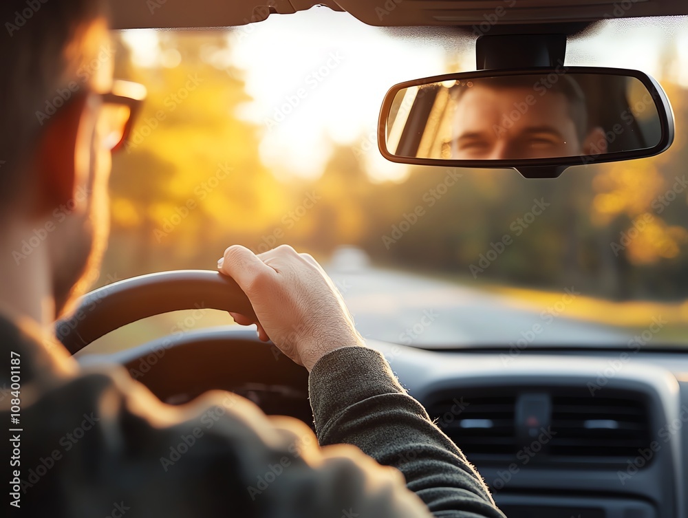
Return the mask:
{"type": "Polygon", "coordinates": [[[566,317],[557,307],[532,310],[517,299],[413,274],[327,268],[366,338],[407,345],[602,345],[629,333],[566,317]],[[545,311],[543,313],[543,311],[545,311]],[[519,341],[520,342],[517,342],[519,341]]]}

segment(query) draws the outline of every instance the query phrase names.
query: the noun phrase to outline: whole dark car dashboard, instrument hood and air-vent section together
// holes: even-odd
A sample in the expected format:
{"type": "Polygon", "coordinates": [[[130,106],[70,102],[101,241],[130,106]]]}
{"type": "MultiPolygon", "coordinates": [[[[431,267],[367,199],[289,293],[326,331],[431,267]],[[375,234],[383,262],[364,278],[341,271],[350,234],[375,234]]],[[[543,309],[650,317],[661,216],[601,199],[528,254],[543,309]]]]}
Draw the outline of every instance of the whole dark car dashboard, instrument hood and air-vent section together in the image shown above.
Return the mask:
{"type": "MultiPolygon", "coordinates": [[[[685,354],[368,345],[464,451],[508,517],[688,516],[685,354]]],[[[250,329],[217,327],[79,360],[125,365],[171,404],[224,389],[312,426],[308,373],[250,329]]]]}

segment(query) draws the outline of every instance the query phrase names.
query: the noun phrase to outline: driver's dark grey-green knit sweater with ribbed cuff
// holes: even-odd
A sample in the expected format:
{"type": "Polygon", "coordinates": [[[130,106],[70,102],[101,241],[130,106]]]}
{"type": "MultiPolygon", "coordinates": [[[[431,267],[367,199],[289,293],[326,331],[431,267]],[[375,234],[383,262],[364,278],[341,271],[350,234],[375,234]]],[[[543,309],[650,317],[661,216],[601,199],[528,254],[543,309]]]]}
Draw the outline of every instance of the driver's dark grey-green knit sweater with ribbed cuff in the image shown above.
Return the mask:
{"type": "Polygon", "coordinates": [[[170,407],[122,367],[80,368],[30,323],[0,317],[0,343],[2,422],[21,407],[20,430],[0,437],[6,516],[503,517],[370,349],[315,365],[316,439],[228,392],[170,407]],[[10,358],[21,359],[19,405],[5,393],[10,358]]]}

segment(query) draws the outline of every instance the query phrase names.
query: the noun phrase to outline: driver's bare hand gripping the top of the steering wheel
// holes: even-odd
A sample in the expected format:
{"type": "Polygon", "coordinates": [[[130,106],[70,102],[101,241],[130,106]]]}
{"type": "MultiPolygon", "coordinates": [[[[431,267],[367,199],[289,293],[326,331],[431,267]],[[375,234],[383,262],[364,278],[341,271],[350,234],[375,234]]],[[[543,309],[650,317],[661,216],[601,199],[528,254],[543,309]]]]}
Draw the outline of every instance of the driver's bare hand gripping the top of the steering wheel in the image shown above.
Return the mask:
{"type": "Polygon", "coordinates": [[[244,290],[258,317],[230,312],[235,321],[257,324],[261,340],[272,340],[308,371],[334,349],[365,346],[341,294],[309,254],[282,245],[255,255],[234,245],[217,268],[244,290]]]}

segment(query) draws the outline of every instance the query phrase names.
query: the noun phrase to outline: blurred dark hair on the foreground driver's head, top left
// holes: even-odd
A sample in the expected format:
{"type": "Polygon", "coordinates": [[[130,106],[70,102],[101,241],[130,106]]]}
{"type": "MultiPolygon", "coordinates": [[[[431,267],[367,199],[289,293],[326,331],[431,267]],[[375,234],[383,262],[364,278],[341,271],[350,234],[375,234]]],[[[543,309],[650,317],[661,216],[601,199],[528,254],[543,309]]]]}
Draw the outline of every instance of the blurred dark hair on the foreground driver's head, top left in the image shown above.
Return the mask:
{"type": "Polygon", "coordinates": [[[35,154],[45,121],[37,111],[58,95],[77,31],[107,13],[102,0],[0,3],[0,201],[11,199],[35,154]]]}

